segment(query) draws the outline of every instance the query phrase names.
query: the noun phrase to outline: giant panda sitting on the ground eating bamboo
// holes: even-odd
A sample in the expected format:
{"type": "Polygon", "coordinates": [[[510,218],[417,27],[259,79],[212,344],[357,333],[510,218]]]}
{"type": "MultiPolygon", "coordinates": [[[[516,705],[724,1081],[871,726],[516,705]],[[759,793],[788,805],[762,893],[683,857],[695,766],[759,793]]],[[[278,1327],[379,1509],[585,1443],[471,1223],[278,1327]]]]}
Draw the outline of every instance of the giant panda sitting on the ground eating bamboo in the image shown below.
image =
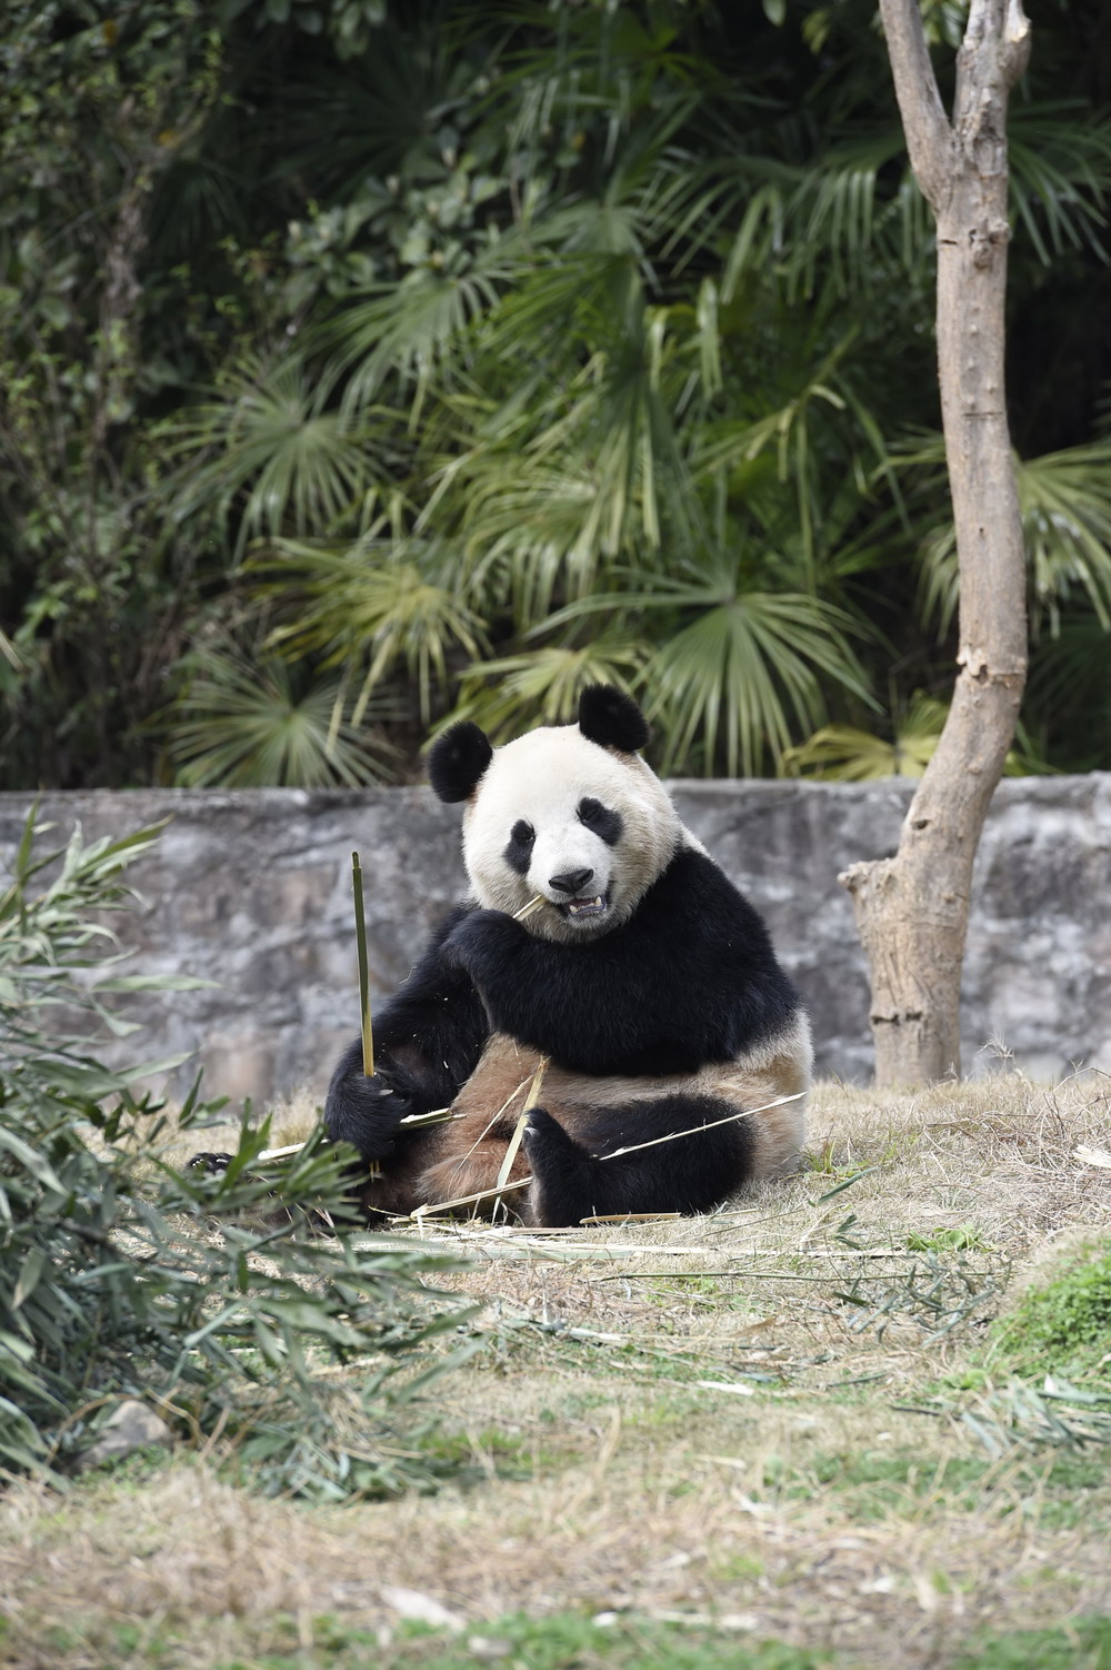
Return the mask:
{"type": "Polygon", "coordinates": [[[629,696],[594,685],[574,725],[494,748],[460,721],[434,743],[432,788],[464,803],[472,898],[375,1014],[374,1077],[355,1039],[324,1111],[334,1141],[377,1162],[372,1221],[494,1189],[542,1060],[509,1174],[530,1181],[504,1196],[524,1224],[706,1212],[797,1161],[806,1012],[641,758],[647,736],[629,696]],[[402,1124],[449,1106],[450,1122],[402,1124]],[[654,1141],[672,1132],[689,1134],[654,1141]]]}

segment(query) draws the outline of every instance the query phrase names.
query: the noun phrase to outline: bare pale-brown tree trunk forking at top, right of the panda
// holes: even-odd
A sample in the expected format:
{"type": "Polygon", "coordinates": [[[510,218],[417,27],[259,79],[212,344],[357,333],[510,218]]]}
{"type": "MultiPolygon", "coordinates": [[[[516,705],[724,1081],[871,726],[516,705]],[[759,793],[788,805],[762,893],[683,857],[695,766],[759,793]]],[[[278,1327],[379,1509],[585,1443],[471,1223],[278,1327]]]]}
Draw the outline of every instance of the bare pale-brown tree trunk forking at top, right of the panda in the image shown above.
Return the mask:
{"type": "Polygon", "coordinates": [[[1026,683],[1026,561],[1003,356],[1008,94],[1021,0],[973,0],[953,120],[917,0],[879,0],[914,177],[938,224],[938,374],[961,576],[958,680],[894,858],[841,875],[871,967],[876,1084],[959,1072],[973,862],[1026,683]]]}

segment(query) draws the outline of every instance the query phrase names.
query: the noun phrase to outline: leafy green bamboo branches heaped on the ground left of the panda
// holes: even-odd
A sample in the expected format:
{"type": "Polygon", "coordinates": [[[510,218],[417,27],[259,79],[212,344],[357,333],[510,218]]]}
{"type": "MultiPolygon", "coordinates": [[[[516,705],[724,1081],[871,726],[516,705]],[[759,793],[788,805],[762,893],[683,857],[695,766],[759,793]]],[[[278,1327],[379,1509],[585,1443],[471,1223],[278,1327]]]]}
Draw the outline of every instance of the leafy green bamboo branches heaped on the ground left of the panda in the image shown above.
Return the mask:
{"type": "MultiPolygon", "coordinates": [[[[133,1084],[172,1064],[108,1069],[93,1040],[98,1024],[133,1030],[113,994],[195,984],[140,982],[110,955],[105,912],[157,830],[42,855],[35,833],[32,817],[0,898],[0,1468],[57,1476],[130,1394],[232,1445],[267,1491],[427,1483],[444,1466],[397,1421],[472,1349],[414,1356],[460,1319],[422,1286],[447,1261],[324,1234],[345,1216],[350,1151],[320,1139],[275,1171],[259,1162],[269,1124],[244,1119],[222,1176],[157,1159],[167,1116],[133,1084]]],[[[178,1124],[217,1107],[194,1091],[178,1124]]]]}

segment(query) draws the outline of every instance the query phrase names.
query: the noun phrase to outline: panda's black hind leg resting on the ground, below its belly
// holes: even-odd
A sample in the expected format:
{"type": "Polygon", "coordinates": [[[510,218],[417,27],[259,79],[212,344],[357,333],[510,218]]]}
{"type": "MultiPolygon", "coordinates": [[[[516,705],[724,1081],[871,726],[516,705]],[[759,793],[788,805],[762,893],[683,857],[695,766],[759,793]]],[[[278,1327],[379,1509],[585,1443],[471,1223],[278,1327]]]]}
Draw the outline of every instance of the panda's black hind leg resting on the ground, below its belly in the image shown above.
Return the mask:
{"type": "Polygon", "coordinates": [[[571,1136],[534,1107],[524,1134],[534,1177],[527,1219],[559,1229],[621,1212],[712,1211],[752,1172],[752,1132],[729,1119],[736,1112],[712,1096],[661,1096],[596,1111],[571,1136]],[[636,1152],[616,1152],[624,1147],[636,1152]]]}

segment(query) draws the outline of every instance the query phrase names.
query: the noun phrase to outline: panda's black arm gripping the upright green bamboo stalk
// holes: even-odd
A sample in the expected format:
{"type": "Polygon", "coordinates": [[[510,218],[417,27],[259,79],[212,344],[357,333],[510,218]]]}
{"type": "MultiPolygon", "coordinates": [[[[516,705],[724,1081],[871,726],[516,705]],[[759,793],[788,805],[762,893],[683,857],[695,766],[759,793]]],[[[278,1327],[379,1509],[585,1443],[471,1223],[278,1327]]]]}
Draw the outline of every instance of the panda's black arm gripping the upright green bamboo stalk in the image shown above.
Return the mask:
{"type": "Polygon", "coordinates": [[[364,1159],[395,1149],[399,1121],[447,1107],[470,1077],[489,1035],[469,975],[444,960],[444,942],[474,913],[460,905],[440,924],[405,984],[374,1017],[375,1074],[362,1070],[362,1035],[340,1055],[324,1104],[334,1142],[364,1159]]]}

